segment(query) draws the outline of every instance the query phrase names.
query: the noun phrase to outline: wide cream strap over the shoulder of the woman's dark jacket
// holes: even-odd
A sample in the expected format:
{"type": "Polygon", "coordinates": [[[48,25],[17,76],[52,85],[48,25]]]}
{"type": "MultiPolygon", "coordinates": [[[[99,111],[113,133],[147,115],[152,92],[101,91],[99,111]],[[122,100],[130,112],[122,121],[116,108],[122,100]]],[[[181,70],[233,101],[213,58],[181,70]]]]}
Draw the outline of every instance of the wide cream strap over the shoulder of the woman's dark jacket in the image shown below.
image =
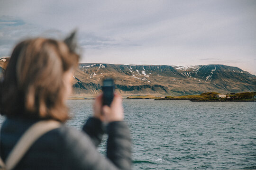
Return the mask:
{"type": "Polygon", "coordinates": [[[6,158],[6,170],[12,170],[40,136],[60,125],[60,122],[55,120],[42,120],[29,127],[6,158]]]}

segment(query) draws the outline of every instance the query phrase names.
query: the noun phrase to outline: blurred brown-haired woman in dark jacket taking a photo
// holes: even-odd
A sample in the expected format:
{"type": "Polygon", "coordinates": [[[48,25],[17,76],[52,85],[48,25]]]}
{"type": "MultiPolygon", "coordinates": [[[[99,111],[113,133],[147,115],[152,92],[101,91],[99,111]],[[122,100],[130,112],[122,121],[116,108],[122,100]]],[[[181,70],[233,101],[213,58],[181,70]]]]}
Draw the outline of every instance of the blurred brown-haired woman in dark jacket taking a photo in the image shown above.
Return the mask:
{"type": "Polygon", "coordinates": [[[79,55],[73,34],[64,42],[35,38],[13,50],[0,85],[0,112],[7,119],[0,131],[0,157],[6,160],[24,132],[39,120],[57,120],[61,127],[41,136],[15,166],[15,170],[129,170],[131,141],[123,121],[121,98],[110,107],[95,99],[94,115],[76,131],[63,123],[69,119],[65,100],[72,92],[72,71],[79,55]],[[97,152],[108,123],[107,158],[97,152]]]}

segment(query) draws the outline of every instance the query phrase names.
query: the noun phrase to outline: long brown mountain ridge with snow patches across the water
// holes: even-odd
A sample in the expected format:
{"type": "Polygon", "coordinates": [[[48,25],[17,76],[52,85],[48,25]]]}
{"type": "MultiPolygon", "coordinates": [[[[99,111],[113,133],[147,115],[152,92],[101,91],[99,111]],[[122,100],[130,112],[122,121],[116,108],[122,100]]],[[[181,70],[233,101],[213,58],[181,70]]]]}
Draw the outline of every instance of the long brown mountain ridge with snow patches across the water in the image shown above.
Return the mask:
{"type": "MultiPolygon", "coordinates": [[[[0,72],[6,68],[8,60],[0,59],[0,72]]],[[[85,96],[99,93],[105,77],[113,77],[116,91],[123,95],[256,92],[256,76],[237,67],[82,63],[74,70],[74,94],[85,96]]]]}

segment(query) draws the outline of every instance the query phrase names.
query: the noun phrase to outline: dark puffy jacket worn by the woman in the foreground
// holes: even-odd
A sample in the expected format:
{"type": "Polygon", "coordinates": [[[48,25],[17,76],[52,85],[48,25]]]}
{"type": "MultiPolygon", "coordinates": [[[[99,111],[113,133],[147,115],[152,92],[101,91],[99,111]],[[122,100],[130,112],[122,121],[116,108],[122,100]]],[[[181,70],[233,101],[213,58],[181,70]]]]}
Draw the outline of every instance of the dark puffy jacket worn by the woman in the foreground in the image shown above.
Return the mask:
{"type": "MultiPolygon", "coordinates": [[[[6,119],[0,131],[3,161],[35,120],[6,119]]],[[[83,132],[62,125],[41,136],[14,170],[130,170],[131,140],[123,121],[107,126],[107,158],[97,151],[104,133],[99,119],[89,118],[83,132]],[[85,133],[86,132],[86,133],[85,133]]]]}

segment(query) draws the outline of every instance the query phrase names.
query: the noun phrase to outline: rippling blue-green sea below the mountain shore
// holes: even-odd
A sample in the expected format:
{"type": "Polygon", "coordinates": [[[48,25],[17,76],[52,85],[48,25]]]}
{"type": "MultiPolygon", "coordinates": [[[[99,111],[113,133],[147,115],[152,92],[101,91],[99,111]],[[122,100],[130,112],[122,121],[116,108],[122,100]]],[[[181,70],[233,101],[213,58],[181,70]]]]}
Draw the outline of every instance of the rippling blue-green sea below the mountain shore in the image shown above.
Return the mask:
{"type": "MultiPolygon", "coordinates": [[[[78,130],[93,100],[69,100],[78,130]]],[[[256,102],[123,100],[133,170],[256,169],[256,102]]],[[[4,117],[0,117],[0,123],[4,117]]],[[[98,150],[105,156],[107,135],[98,150]]]]}

